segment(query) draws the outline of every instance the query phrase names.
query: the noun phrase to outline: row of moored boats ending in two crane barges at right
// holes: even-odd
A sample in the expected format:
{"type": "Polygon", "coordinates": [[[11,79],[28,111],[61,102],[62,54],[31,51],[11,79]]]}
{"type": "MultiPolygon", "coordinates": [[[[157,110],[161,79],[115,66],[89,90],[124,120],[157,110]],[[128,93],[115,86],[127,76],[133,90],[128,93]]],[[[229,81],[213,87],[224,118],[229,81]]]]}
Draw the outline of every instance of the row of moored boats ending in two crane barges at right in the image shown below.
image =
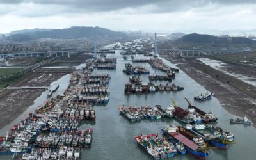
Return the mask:
{"type": "Polygon", "coordinates": [[[195,106],[189,106],[188,109],[182,109],[176,104],[173,106],[169,104],[165,109],[160,105],[151,108],[149,106],[137,107],[125,107],[119,108],[121,115],[124,115],[131,122],[139,122],[143,119],[161,119],[161,118],[176,118],[180,122],[185,124],[195,124],[196,130],[205,129],[205,125],[202,123],[215,122],[218,120],[214,113],[205,113],[204,111],[196,108],[195,106]]]}

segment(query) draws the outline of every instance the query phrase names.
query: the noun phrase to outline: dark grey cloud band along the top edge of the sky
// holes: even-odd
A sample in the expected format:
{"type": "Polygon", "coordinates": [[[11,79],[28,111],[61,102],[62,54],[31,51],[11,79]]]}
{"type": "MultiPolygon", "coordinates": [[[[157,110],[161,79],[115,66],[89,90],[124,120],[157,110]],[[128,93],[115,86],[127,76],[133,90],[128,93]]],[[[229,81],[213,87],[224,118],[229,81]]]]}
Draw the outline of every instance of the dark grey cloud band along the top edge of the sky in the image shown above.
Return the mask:
{"type": "Polygon", "coordinates": [[[156,6],[152,12],[172,12],[189,8],[198,8],[209,4],[255,4],[255,0],[0,0],[0,4],[35,3],[72,7],[77,11],[105,12],[124,8],[156,6]],[[163,9],[163,10],[161,10],[163,9]]]}

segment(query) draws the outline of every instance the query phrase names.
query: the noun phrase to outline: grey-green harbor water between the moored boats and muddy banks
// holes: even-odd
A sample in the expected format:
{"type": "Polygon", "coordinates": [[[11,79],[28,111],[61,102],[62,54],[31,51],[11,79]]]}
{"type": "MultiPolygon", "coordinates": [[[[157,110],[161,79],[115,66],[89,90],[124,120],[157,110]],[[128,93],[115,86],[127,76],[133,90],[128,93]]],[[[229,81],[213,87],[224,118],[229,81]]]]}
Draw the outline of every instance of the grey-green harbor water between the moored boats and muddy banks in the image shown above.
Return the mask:
{"type": "MultiPolygon", "coordinates": [[[[163,72],[156,70],[148,63],[132,63],[131,57],[128,60],[123,60],[120,53],[110,54],[108,57],[117,58],[116,70],[95,70],[97,73],[108,73],[111,76],[109,81],[110,100],[106,106],[94,106],[96,113],[96,120],[93,124],[85,122],[81,125],[80,129],[93,128],[93,140],[92,147],[82,150],[81,159],[150,159],[150,157],[138,147],[134,137],[139,134],[156,133],[161,136],[161,129],[166,127],[170,123],[179,124],[173,119],[165,118],[162,120],[142,120],[141,122],[131,123],[122,115],[118,110],[119,106],[123,104],[125,106],[142,106],[149,105],[153,107],[156,104],[160,104],[163,108],[166,108],[170,104],[170,98],[172,97],[178,105],[184,109],[187,108],[188,103],[184,99],[185,97],[192,102],[194,106],[204,110],[212,111],[218,117],[216,125],[231,131],[236,137],[236,144],[228,145],[227,150],[211,149],[209,157],[207,159],[249,159],[253,160],[256,157],[255,144],[256,138],[254,137],[256,130],[250,126],[244,125],[230,125],[229,119],[233,118],[225,109],[221,106],[218,99],[212,97],[211,100],[205,102],[195,102],[193,97],[198,92],[204,92],[204,86],[196,83],[188,77],[184,72],[180,70],[176,74],[173,82],[179,86],[183,86],[184,90],[180,92],[156,92],[148,94],[133,94],[125,95],[124,86],[129,82],[129,76],[124,74],[122,70],[125,68],[125,63],[131,63],[132,65],[140,65],[150,70],[150,74],[164,74],[163,72]]],[[[164,62],[167,65],[174,67],[173,64],[168,61],[164,62]]],[[[65,86],[68,86],[70,74],[67,77],[62,77],[60,88],[56,93],[63,92],[65,86]]],[[[143,83],[148,83],[148,75],[141,76],[143,83]]],[[[56,82],[54,82],[56,83],[56,82]]],[[[52,83],[53,84],[53,83],[52,83]]],[[[160,84],[157,81],[157,84],[160,84]]],[[[162,81],[162,84],[166,82],[162,81]]],[[[54,95],[56,95],[54,93],[54,95]]],[[[42,93],[40,99],[35,100],[35,104],[27,109],[27,113],[33,111],[37,106],[40,106],[44,100],[47,99],[47,92],[42,93]]],[[[228,95],[227,95],[228,96],[228,95]]],[[[24,114],[20,117],[24,117],[24,114]]],[[[19,118],[20,118],[19,117],[19,118]]],[[[5,134],[13,124],[17,124],[15,120],[9,126],[1,129],[1,134],[5,134]]],[[[19,121],[18,121],[19,122],[19,121]]],[[[0,159],[5,159],[1,158],[0,159]]],[[[169,159],[194,159],[193,157],[186,155],[177,155],[169,159]]]]}

